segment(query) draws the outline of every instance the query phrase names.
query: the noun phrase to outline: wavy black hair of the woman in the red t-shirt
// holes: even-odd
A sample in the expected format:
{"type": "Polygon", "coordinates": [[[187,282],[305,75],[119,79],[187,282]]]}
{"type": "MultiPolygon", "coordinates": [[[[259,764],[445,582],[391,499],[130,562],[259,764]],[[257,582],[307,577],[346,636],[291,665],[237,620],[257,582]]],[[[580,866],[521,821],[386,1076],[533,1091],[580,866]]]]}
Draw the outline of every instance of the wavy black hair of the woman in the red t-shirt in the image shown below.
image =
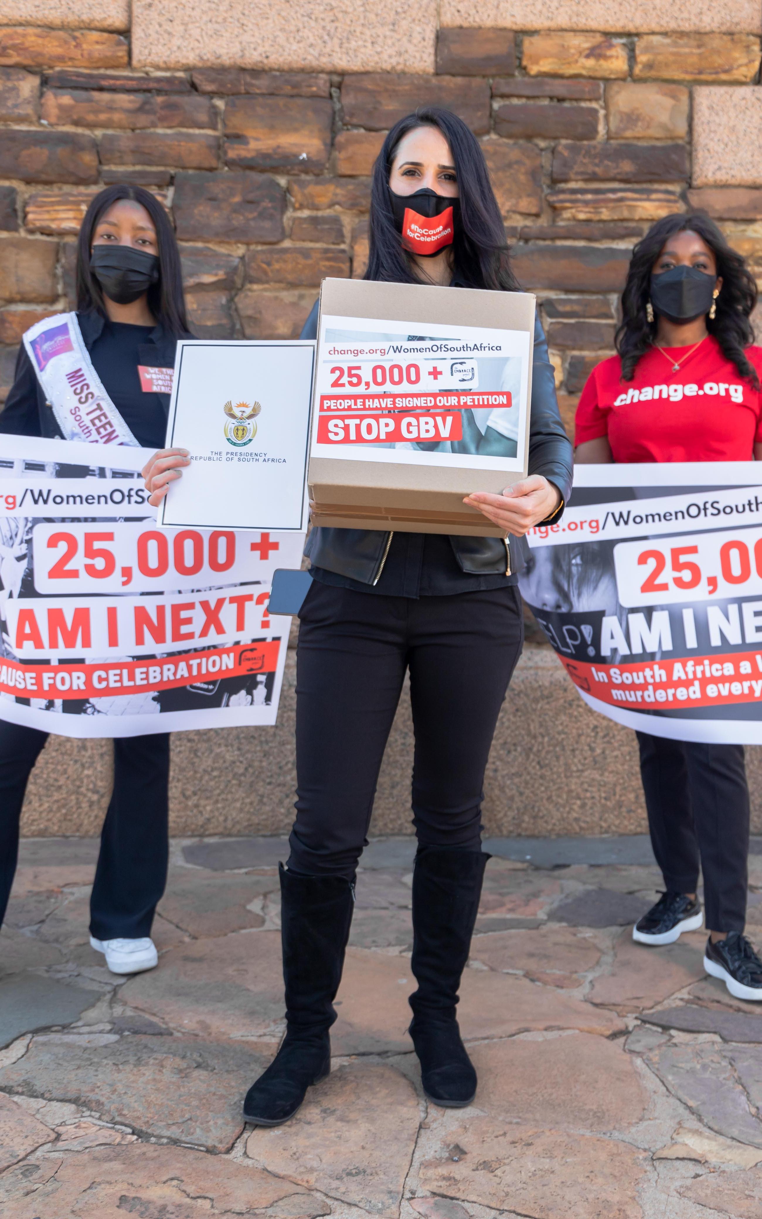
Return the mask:
{"type": "Polygon", "coordinates": [[[741,255],[730,249],[722,230],[706,212],[662,216],[633,250],[622,293],[622,324],[614,338],[622,357],[622,380],[633,379],[638,361],[656,336],[656,318],[653,322],[646,318],[651,268],[669,238],[684,232],[696,233],[708,245],[717,260],[717,274],[722,275],[722,291],[716,300],[717,316],[707,316],[707,330],[717,339],[725,358],[735,364],[739,377],[758,389],[757,374],[744,352],[753,343],[749,317],[757,302],[757,285],[741,255]]]}

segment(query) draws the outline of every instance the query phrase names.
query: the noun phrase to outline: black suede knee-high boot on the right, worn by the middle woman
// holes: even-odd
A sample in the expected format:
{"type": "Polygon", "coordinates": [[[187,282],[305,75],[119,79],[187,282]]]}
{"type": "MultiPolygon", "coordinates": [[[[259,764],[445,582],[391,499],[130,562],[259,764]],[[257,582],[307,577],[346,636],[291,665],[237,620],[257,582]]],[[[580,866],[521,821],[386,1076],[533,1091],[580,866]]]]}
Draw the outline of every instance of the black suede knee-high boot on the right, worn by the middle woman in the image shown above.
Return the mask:
{"type": "Polygon", "coordinates": [[[410,1035],[421,1061],[423,1091],[435,1104],[471,1104],[477,1073],[455,1015],[468,961],[484,867],[482,851],[421,847],[413,870],[413,952],[418,990],[410,996],[410,1035]]]}

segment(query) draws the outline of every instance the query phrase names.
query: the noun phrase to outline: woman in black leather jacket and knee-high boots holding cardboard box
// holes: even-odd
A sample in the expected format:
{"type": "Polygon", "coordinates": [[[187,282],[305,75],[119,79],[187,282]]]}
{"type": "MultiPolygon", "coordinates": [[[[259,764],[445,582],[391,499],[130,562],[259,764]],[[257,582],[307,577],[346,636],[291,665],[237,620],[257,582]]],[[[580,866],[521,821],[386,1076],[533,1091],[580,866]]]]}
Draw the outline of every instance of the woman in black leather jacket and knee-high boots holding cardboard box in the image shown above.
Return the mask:
{"type": "MultiPolygon", "coordinates": [[[[482,149],[449,111],[421,110],[386,137],[374,168],[369,236],[367,279],[518,290],[482,149]]],[[[302,338],[315,338],[315,318],[302,338]]],[[[463,414],[461,451],[515,456],[499,412],[484,427],[463,414]]],[[[163,453],[146,469],[154,502],[180,464],[182,455],[163,453]]],[[[455,1012],[488,858],[480,842],[484,769],[523,642],[515,540],[558,517],[571,466],[536,323],[529,477],[502,495],[466,497],[501,536],[333,528],[310,535],[315,580],[300,613],[297,652],[299,798],[280,874],[288,1031],[246,1096],[249,1121],[287,1121],[330,1069],[328,1030],[355,872],[406,669],[418,836],[411,962],[418,990],[410,1032],[427,1096],[443,1106],[474,1097],[475,1072],[455,1012]]]]}

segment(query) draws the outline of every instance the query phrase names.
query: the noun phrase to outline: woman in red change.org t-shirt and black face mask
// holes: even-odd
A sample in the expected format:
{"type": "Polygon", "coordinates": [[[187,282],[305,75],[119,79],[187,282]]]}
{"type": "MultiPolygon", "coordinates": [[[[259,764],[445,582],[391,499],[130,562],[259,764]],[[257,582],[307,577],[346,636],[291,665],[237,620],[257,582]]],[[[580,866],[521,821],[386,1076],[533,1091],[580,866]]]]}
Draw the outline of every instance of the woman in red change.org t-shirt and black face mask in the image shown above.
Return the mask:
{"type": "MultiPolygon", "coordinates": [[[[577,462],[762,460],[757,290],[707,216],[664,216],[633,250],[618,355],[597,364],[575,419],[577,462]]],[[[703,965],[732,995],[762,1000],[762,961],[744,935],[749,787],[741,745],[638,733],[649,828],[666,892],[633,929],[674,944],[701,926],[703,965]]]]}

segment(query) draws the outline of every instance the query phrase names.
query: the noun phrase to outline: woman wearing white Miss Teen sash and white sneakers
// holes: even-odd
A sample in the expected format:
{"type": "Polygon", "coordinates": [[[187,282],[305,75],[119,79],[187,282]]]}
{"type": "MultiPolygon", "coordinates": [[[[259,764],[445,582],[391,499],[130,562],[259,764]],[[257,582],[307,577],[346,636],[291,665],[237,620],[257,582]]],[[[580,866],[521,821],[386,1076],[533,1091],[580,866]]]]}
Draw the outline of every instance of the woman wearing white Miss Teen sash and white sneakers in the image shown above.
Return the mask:
{"type": "MultiPolygon", "coordinates": [[[[161,204],[117,185],[91,201],[77,250],[77,312],[24,335],[0,433],[163,444],[174,349],[189,336],[179,251],[161,204]]],[[[48,734],[0,720],[0,923],[27,780],[48,734]]],[[[113,742],[113,792],[90,897],[90,944],[115,973],[157,963],[150,939],[167,878],[169,735],[113,742]]],[[[77,792],[72,791],[72,801],[77,792]]]]}

